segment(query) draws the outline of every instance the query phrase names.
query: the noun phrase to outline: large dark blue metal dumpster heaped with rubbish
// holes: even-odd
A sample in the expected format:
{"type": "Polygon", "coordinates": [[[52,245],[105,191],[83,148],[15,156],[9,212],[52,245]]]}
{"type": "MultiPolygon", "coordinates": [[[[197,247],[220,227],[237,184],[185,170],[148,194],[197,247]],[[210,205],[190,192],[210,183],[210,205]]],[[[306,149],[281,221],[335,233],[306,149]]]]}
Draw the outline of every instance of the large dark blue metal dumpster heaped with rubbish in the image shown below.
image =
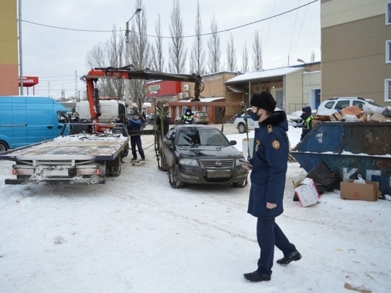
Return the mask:
{"type": "Polygon", "coordinates": [[[307,172],[323,161],[340,181],[360,174],[391,195],[390,122],[319,122],[291,154],[307,172]]]}

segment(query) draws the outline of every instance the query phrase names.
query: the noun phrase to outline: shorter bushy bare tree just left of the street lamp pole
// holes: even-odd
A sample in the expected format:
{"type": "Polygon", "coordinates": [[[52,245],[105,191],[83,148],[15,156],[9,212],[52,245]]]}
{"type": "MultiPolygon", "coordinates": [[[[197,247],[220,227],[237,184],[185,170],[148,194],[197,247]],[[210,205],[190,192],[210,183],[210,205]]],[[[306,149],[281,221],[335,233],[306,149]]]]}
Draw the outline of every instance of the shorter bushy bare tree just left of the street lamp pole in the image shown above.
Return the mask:
{"type": "MultiPolygon", "coordinates": [[[[106,43],[98,43],[87,53],[87,67],[122,67],[124,65],[124,36],[117,35],[113,26],[112,36],[106,43]]],[[[124,81],[114,79],[98,79],[97,84],[100,95],[115,97],[122,100],[124,97],[124,81]]]]}

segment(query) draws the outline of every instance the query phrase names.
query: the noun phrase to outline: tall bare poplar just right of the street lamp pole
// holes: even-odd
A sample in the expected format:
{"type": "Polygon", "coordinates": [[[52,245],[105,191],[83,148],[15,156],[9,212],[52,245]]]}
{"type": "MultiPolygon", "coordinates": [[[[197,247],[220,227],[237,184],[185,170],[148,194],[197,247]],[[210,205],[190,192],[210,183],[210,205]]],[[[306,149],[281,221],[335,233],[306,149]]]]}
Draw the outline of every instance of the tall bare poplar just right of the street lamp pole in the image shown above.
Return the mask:
{"type": "MultiPolygon", "coordinates": [[[[131,42],[130,42],[130,60],[136,68],[150,68],[151,67],[151,50],[150,44],[146,37],[147,23],[145,7],[142,0],[136,1],[136,9],[142,7],[141,13],[136,15],[135,22],[132,25],[131,42]]],[[[142,105],[146,100],[145,94],[146,80],[130,80],[130,97],[136,103],[139,111],[142,110],[142,105]]]]}

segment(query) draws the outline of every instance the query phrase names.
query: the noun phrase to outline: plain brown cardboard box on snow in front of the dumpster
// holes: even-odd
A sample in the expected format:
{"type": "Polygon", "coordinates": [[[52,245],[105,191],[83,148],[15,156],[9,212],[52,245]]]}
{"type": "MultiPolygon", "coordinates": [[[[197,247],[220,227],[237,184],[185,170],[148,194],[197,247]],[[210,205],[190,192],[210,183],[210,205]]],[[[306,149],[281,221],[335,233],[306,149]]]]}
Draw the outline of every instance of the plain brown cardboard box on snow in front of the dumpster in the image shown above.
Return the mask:
{"type": "Polygon", "coordinates": [[[353,179],[348,179],[346,182],[341,182],[341,198],[377,201],[381,194],[379,182],[365,181],[365,184],[363,184],[354,183],[353,181],[353,179]]]}

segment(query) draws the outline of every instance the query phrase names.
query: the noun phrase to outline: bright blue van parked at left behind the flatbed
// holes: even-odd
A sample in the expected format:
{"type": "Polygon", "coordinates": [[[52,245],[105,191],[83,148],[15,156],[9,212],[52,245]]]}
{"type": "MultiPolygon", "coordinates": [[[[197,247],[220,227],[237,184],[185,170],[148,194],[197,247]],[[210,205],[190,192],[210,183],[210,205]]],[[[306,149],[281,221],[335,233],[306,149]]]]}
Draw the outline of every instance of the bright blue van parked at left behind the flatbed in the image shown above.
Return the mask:
{"type": "MultiPolygon", "coordinates": [[[[49,97],[0,97],[0,153],[58,137],[68,109],[49,97]]],[[[66,126],[69,128],[69,126],[66,126]]],[[[67,135],[65,129],[63,135],[67,135]]]]}

